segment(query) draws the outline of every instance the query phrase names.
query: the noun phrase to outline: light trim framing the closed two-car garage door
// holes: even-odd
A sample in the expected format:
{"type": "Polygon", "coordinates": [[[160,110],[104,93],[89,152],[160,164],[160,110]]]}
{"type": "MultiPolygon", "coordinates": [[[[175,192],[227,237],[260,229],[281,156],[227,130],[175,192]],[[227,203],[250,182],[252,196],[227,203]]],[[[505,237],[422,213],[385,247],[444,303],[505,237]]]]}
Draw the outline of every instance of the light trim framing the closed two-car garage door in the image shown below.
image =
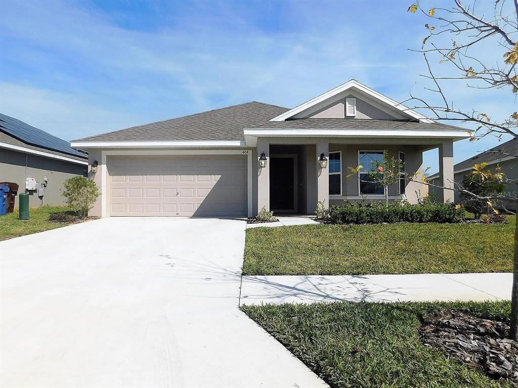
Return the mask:
{"type": "Polygon", "coordinates": [[[243,155],[247,157],[248,217],[252,217],[252,150],[112,150],[101,152],[101,217],[108,217],[108,168],[107,158],[110,155],[243,155]]]}

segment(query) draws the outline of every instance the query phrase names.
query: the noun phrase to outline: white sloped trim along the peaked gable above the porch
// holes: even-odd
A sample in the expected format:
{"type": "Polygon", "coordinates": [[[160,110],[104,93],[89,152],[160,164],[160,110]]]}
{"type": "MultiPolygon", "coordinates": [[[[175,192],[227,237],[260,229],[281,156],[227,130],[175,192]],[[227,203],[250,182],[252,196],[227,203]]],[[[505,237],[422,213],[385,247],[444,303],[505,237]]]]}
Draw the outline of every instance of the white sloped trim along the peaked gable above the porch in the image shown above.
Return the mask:
{"type": "Polygon", "coordinates": [[[430,120],[429,118],[426,118],[425,116],[423,116],[421,113],[418,113],[404,105],[401,105],[397,101],[394,101],[392,98],[384,96],[381,93],[376,92],[374,89],[371,89],[370,87],[368,87],[362,83],[359,83],[358,81],[356,81],[354,79],[350,80],[349,82],[344,83],[343,85],[337,86],[334,89],[331,89],[330,91],[325,92],[324,94],[321,94],[320,96],[317,96],[307,102],[304,102],[304,103],[300,104],[298,107],[295,107],[287,112],[284,112],[284,113],[270,119],[270,121],[285,121],[287,118],[290,118],[290,117],[296,115],[297,113],[303,112],[306,109],[309,109],[312,106],[314,106],[322,101],[325,101],[329,98],[332,98],[333,96],[336,96],[339,93],[345,92],[348,89],[353,88],[353,87],[358,89],[360,92],[372,97],[373,99],[384,102],[387,105],[389,105],[403,113],[406,113],[413,118],[419,119],[423,123],[433,123],[434,122],[433,120],[430,120]]]}

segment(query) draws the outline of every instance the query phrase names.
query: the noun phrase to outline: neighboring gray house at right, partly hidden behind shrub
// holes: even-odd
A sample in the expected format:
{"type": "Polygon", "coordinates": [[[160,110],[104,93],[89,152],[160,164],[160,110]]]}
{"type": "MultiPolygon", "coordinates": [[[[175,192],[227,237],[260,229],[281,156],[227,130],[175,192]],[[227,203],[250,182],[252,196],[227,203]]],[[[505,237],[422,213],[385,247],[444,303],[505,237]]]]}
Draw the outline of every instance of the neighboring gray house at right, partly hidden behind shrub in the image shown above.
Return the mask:
{"type": "MultiPolygon", "coordinates": [[[[474,165],[479,165],[482,162],[488,164],[487,168],[495,172],[495,168],[499,166],[502,172],[506,174],[506,177],[511,180],[518,180],[518,158],[513,155],[518,155],[518,140],[512,139],[505,143],[498,144],[496,147],[490,150],[481,152],[469,159],[463,160],[453,166],[453,181],[462,184],[464,176],[473,171],[474,165]]],[[[439,177],[439,174],[431,175],[428,180],[430,183],[434,183],[439,177]]],[[[430,188],[430,192],[436,192],[435,188],[430,188]]],[[[516,185],[508,185],[506,191],[507,198],[516,198],[516,185]]],[[[461,202],[461,193],[455,191],[455,202],[461,202]]],[[[514,201],[506,202],[506,208],[516,209],[516,203],[514,201]]]]}

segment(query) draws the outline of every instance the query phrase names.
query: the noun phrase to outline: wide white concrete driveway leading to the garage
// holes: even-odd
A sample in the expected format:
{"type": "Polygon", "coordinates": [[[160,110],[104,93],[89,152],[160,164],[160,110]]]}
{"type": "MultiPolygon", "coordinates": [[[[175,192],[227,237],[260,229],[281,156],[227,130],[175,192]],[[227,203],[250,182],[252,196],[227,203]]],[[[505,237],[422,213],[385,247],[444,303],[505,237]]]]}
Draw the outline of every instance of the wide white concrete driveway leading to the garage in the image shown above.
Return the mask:
{"type": "Polygon", "coordinates": [[[107,218],[1,242],[0,386],[325,386],[238,309],[244,229],[107,218]]]}

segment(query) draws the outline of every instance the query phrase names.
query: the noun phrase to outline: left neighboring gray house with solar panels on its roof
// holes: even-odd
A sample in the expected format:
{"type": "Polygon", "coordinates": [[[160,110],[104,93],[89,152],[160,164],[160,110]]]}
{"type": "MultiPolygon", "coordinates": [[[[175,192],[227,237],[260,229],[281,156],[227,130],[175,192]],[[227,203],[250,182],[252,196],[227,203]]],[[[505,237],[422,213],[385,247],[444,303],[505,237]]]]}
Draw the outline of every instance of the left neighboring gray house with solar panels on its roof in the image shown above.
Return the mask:
{"type": "Polygon", "coordinates": [[[31,206],[64,204],[63,182],[85,175],[87,168],[88,155],[67,141],[0,114],[0,182],[18,184],[18,193],[31,196],[31,206]],[[27,178],[34,179],[30,186],[25,185],[27,178]]]}

